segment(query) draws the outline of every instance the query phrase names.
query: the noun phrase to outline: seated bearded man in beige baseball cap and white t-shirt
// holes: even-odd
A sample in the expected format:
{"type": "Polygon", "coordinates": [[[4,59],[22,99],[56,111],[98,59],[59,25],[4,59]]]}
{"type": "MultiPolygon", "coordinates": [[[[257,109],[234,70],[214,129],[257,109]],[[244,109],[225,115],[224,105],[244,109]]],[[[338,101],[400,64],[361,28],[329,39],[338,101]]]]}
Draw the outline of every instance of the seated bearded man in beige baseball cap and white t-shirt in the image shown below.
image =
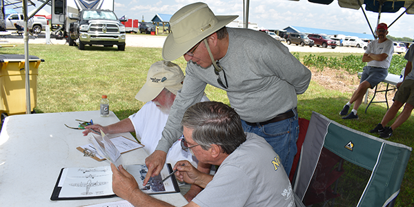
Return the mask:
{"type": "MultiPolygon", "coordinates": [[[[144,106],[135,114],[130,115],[128,119],[115,124],[86,126],[87,130],[83,131],[83,135],[86,136],[92,132],[89,129],[102,130],[107,134],[135,132],[141,144],[144,144],[144,150],[150,155],[161,139],[161,132],[166,125],[168,113],[177,91],[182,88],[183,80],[184,73],[177,64],[170,61],[153,63],[148,70],[146,83],[135,96],[138,101],[146,102],[144,106]]],[[[207,97],[202,97],[202,101],[208,101],[207,97]]],[[[166,161],[174,166],[180,160],[188,160],[197,166],[197,159],[190,152],[182,150],[180,142],[176,141],[168,151],[166,161]]]]}

